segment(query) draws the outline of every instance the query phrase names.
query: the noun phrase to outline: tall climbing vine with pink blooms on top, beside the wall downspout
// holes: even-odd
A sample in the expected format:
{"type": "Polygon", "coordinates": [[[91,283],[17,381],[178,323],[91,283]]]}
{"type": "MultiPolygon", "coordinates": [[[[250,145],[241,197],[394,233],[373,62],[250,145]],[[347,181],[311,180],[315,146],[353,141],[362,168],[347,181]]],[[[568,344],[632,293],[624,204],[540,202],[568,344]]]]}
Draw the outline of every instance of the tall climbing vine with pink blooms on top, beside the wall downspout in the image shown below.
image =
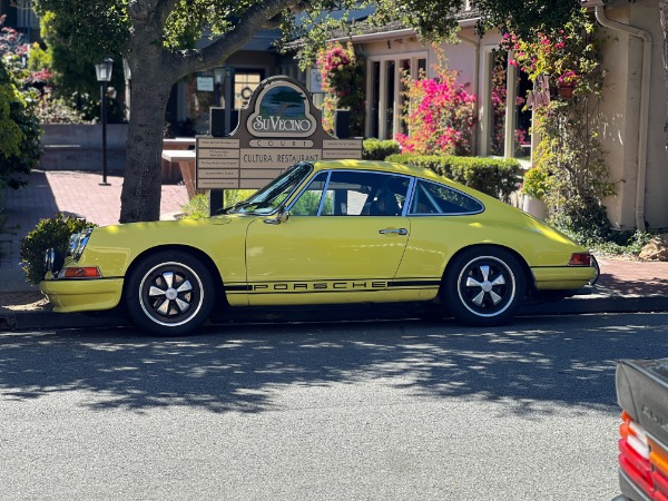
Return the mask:
{"type": "Polygon", "coordinates": [[[515,50],[517,65],[541,87],[573,89],[572,97],[549,102],[530,96],[533,134],[541,141],[524,191],[546,203],[556,224],[602,237],[610,226],[602,202],[615,195],[615,185],[608,180],[598,135],[603,71],[596,24],[578,9],[562,27],[538,27],[525,37],[508,33],[503,39],[507,49],[515,50]]]}

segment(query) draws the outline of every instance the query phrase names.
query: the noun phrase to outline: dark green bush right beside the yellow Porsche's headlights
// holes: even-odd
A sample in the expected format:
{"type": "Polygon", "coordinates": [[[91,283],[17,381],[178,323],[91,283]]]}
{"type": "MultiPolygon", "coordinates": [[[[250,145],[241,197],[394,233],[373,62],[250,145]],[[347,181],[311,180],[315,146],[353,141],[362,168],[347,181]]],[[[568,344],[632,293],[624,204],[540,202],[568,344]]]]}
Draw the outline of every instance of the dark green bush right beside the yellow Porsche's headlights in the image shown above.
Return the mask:
{"type": "Polygon", "coordinates": [[[62,213],[49,219],[41,219],[35,229],[21,239],[20,256],[26,281],[39,284],[43,279],[47,273],[45,253],[48,248],[53,247],[65,255],[72,233],[95,226],[97,225],[87,223],[86,219],[67,216],[62,213]]]}

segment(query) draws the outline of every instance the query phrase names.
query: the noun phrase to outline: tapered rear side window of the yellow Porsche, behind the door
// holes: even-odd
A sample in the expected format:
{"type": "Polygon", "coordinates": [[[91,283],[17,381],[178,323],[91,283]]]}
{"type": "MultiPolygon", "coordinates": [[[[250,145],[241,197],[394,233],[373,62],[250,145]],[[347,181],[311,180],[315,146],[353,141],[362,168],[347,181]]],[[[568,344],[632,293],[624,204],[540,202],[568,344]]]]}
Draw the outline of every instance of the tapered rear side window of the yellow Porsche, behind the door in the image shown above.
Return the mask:
{"type": "Polygon", "coordinates": [[[448,186],[418,180],[410,214],[478,214],[484,206],[475,198],[448,186]]]}

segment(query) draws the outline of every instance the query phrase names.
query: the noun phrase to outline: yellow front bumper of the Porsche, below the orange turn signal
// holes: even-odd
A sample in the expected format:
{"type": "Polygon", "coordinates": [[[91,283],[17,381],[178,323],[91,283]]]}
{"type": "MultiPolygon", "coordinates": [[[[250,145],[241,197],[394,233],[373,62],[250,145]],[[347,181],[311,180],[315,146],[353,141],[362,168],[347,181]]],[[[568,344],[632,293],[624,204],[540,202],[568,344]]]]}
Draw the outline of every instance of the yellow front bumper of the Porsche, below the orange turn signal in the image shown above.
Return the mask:
{"type": "Polygon", "coordinates": [[[122,278],[53,279],[39,283],[59,313],[111,310],[120,303],[122,278]]]}

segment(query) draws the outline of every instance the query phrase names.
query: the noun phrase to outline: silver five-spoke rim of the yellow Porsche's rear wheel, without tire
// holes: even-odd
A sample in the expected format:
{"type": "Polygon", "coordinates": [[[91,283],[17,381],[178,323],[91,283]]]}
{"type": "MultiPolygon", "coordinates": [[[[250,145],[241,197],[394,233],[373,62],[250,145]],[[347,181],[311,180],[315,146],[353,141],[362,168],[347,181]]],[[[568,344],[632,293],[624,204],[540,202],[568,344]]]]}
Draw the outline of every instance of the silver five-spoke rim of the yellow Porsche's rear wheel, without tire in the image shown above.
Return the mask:
{"type": "Polygon", "coordinates": [[[458,294],[464,307],[474,315],[500,315],[515,297],[514,273],[498,257],[477,257],[462,267],[458,278],[458,294]]]}

